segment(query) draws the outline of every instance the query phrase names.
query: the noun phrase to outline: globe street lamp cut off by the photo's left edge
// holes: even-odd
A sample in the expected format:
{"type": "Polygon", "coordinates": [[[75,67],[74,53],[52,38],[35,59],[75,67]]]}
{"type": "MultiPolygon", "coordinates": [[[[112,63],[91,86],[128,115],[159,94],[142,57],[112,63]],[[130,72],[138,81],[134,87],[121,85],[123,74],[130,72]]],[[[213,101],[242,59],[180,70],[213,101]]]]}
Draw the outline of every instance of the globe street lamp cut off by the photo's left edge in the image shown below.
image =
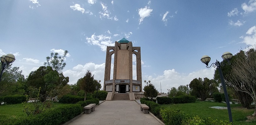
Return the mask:
{"type": "Polygon", "coordinates": [[[2,71],[0,74],[0,81],[2,80],[2,76],[3,76],[3,71],[4,69],[10,64],[13,63],[15,61],[15,56],[13,54],[7,54],[7,55],[3,55],[0,57],[1,58],[1,63],[2,63],[2,71]]]}

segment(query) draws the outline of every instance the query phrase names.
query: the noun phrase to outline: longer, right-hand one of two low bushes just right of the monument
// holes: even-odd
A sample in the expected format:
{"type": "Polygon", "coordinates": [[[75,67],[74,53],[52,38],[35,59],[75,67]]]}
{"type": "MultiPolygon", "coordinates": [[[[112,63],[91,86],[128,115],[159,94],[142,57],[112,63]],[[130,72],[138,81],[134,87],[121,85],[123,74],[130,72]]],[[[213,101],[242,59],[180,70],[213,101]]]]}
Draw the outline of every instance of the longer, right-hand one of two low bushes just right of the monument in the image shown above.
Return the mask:
{"type": "Polygon", "coordinates": [[[180,95],[177,97],[173,97],[173,103],[178,104],[178,103],[194,103],[196,102],[196,98],[194,96],[190,95],[180,95]]]}

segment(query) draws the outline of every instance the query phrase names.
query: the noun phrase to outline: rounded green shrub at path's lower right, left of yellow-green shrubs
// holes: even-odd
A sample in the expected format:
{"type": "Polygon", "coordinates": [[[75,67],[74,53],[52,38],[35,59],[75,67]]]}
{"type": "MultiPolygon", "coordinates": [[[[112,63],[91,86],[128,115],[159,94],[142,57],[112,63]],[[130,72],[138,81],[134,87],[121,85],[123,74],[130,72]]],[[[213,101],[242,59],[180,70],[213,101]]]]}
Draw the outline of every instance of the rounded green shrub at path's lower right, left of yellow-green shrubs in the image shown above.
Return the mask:
{"type": "Polygon", "coordinates": [[[161,109],[160,115],[166,125],[181,125],[182,120],[186,118],[184,112],[182,112],[180,109],[161,109]]]}

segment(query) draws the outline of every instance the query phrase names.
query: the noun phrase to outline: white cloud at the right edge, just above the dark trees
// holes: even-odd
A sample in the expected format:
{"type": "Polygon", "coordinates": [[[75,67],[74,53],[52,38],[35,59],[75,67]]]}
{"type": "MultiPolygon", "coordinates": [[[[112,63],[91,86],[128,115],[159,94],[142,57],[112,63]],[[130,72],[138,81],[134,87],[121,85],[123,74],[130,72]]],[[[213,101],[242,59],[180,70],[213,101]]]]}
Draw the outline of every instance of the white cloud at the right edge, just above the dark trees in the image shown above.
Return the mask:
{"type": "Polygon", "coordinates": [[[248,36],[241,36],[240,38],[243,39],[243,43],[246,43],[246,45],[255,45],[256,43],[256,26],[253,26],[251,28],[248,29],[248,31],[246,32],[246,34],[248,34],[248,36]]]}

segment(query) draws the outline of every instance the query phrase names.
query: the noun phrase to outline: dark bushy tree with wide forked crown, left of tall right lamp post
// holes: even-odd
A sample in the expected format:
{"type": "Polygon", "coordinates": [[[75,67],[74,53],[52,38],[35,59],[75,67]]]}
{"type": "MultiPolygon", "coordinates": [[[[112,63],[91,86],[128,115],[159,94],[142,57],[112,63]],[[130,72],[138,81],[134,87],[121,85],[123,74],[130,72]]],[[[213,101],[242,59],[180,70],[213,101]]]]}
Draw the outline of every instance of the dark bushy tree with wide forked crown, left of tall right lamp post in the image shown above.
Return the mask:
{"type": "Polygon", "coordinates": [[[201,101],[206,100],[210,91],[216,87],[216,82],[213,79],[210,80],[209,78],[204,78],[204,81],[202,78],[194,78],[189,84],[189,88],[191,88],[192,91],[198,92],[201,101]]]}

